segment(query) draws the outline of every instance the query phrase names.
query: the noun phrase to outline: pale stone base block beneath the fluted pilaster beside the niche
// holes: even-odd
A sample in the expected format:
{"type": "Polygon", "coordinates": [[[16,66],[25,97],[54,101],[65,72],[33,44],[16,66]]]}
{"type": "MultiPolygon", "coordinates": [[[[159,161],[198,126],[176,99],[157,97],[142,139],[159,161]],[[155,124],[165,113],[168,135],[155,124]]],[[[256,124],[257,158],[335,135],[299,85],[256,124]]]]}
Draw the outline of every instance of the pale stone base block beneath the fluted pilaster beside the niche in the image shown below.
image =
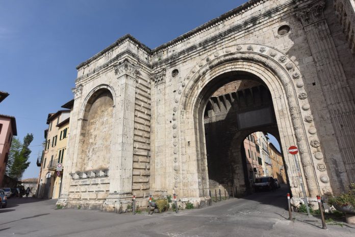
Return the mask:
{"type": "Polygon", "coordinates": [[[132,193],[111,193],[104,203],[104,211],[122,213],[132,204],[132,193]]]}

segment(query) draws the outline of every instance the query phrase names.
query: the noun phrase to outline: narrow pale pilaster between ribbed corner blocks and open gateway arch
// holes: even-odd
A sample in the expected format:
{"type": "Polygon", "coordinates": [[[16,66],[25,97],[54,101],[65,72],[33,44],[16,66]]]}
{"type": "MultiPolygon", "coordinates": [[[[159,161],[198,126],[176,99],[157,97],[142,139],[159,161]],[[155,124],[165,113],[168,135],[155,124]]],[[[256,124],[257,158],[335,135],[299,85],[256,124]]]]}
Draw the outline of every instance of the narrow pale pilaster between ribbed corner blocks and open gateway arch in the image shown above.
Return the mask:
{"type": "Polygon", "coordinates": [[[165,69],[150,76],[150,79],[155,84],[155,196],[167,194],[165,175],[169,165],[166,163],[165,156],[165,76],[165,69]]]}

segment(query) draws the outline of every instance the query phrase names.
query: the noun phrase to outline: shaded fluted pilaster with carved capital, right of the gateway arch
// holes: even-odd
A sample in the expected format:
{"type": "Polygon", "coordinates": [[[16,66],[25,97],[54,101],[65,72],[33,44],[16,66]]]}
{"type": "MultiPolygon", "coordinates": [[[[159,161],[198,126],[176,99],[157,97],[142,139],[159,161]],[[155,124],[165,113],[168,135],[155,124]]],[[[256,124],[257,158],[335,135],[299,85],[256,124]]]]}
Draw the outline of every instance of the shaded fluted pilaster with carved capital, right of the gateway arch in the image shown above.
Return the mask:
{"type": "MultiPolygon", "coordinates": [[[[314,57],[347,175],[355,182],[355,104],[331,32],[324,18],[325,1],[302,6],[296,13],[302,22],[314,57]]],[[[335,141],[336,142],[336,141],[335,141]]],[[[315,147],[311,143],[311,146],[315,147]]],[[[328,182],[327,178],[320,178],[328,182]]]]}

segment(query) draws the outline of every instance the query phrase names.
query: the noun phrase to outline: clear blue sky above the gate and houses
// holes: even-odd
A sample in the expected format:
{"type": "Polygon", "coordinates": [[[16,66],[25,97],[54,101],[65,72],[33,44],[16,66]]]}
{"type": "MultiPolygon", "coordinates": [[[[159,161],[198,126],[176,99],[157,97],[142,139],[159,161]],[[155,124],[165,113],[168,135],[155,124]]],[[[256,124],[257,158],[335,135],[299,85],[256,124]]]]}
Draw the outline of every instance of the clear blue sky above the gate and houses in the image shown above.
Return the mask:
{"type": "Polygon", "coordinates": [[[127,33],[153,49],[245,2],[0,0],[0,114],[21,140],[34,134],[23,178],[38,176],[47,114],[72,99],[75,66],[127,33]]]}

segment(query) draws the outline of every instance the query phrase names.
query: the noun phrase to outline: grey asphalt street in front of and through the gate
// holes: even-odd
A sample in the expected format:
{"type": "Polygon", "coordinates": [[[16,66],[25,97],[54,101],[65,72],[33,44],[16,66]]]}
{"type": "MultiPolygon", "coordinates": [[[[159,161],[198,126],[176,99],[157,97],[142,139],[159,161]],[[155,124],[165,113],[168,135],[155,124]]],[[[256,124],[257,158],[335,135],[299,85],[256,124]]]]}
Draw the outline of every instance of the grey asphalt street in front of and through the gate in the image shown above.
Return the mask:
{"type": "Polygon", "coordinates": [[[164,214],[113,214],[55,210],[56,200],[9,200],[0,209],[0,236],[355,236],[355,228],[328,225],[298,214],[286,220],[285,190],[213,203],[212,207],[164,214]]]}

